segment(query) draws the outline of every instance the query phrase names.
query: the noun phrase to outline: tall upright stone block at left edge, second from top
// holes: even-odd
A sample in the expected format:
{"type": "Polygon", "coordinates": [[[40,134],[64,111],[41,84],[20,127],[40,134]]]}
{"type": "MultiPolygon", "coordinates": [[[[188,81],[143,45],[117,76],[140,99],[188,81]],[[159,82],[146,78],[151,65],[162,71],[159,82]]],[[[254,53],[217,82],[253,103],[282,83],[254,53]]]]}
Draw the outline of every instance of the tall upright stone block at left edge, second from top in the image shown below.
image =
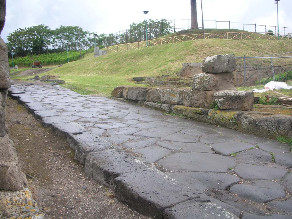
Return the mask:
{"type": "Polygon", "coordinates": [[[0,37],[0,88],[10,88],[10,75],[8,65],[8,51],[6,44],[0,37]]]}

